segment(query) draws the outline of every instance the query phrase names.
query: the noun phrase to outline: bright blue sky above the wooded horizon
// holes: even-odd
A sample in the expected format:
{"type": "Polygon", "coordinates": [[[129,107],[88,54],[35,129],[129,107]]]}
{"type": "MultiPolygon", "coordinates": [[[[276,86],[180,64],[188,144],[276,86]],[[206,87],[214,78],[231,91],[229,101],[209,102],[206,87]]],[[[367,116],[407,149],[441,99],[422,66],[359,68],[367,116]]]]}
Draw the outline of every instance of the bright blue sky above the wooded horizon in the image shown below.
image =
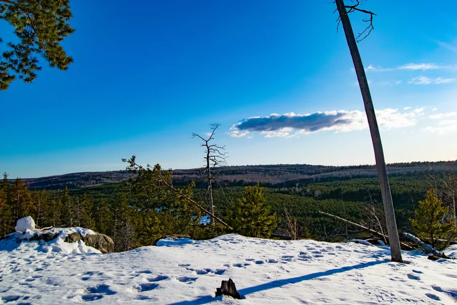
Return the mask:
{"type": "MultiPolygon", "coordinates": [[[[374,164],[328,2],[71,1],[68,71],[44,65],[32,84],[0,91],[0,170],[11,178],[117,170],[133,154],[195,168],[203,151],[191,134],[211,122],[222,125],[215,143],[226,145],[229,165],[374,164]]],[[[386,160],[455,160],[456,5],[412,3],[364,4],[377,14],[359,50],[386,160]]],[[[350,17],[363,30],[364,16],[350,17]]],[[[0,23],[4,41],[11,33],[0,23]]]]}

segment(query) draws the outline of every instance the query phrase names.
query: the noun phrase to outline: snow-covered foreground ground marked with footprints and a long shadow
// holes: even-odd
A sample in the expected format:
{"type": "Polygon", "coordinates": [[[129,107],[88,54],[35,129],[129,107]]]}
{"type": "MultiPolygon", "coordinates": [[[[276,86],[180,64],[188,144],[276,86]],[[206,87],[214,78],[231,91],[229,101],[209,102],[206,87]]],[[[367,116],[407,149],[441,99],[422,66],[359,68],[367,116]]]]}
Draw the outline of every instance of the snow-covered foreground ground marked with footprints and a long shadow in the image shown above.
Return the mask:
{"type": "MultiPolygon", "coordinates": [[[[425,255],[403,252],[409,264],[392,263],[388,247],[239,235],[202,241],[162,239],[158,246],[111,254],[83,247],[87,246],[65,246],[61,238],[14,247],[0,241],[1,302],[457,303],[457,261],[430,261],[425,255]],[[229,278],[243,300],[214,297],[216,287],[229,278]]],[[[457,246],[446,253],[457,256],[457,246]]]]}

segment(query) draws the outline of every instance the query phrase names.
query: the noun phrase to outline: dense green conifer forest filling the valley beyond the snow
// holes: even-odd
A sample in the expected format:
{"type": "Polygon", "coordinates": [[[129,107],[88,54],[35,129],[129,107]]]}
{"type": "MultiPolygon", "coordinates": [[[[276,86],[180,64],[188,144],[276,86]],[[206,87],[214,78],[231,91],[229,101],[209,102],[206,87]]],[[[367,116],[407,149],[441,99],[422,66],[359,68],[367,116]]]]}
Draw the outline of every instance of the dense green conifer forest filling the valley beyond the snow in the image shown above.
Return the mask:
{"type": "MultiPolygon", "coordinates": [[[[424,199],[428,189],[436,189],[437,196],[453,209],[457,193],[455,166],[455,162],[434,163],[430,167],[419,163],[390,166],[398,173],[392,175],[390,182],[400,231],[414,232],[409,219],[414,218],[418,202],[424,199]]],[[[277,228],[272,233],[327,240],[347,234],[345,224],[319,211],[369,227],[385,225],[377,178],[360,178],[356,174],[357,171],[359,175],[360,172],[367,173],[371,167],[340,168],[342,174],[337,174],[339,171],[333,167],[306,168],[292,165],[214,170],[219,182],[213,186],[214,214],[226,220],[230,206],[243,197],[245,185],[253,185],[251,182],[256,181],[264,187],[265,203],[279,217],[277,228]],[[257,176],[253,174],[254,169],[257,176]],[[315,179],[287,180],[293,175],[310,175],[313,170],[313,175],[321,175],[317,180],[323,182],[314,182],[315,179]],[[353,172],[354,177],[343,178],[349,172],[353,172]],[[238,178],[231,181],[227,178],[234,176],[238,178]],[[268,179],[262,180],[261,177],[268,179]],[[375,223],[374,217],[382,223],[375,223]]],[[[191,198],[205,205],[206,188],[197,178],[159,167],[159,170],[145,170],[142,174],[133,173],[127,182],[72,189],[67,186],[61,189],[31,189],[25,183],[27,180],[9,180],[5,174],[0,183],[0,234],[13,232],[16,220],[27,215],[31,215],[39,227],[81,226],[106,234],[114,239],[117,251],[150,245],[167,234],[210,238],[229,232],[223,226],[202,224],[205,213],[186,200],[191,198]],[[163,176],[163,173],[166,175],[163,176]],[[179,193],[164,187],[163,180],[158,180],[159,176],[169,179],[170,184],[179,188],[179,193]]],[[[354,229],[349,228],[349,231],[354,229]]]]}

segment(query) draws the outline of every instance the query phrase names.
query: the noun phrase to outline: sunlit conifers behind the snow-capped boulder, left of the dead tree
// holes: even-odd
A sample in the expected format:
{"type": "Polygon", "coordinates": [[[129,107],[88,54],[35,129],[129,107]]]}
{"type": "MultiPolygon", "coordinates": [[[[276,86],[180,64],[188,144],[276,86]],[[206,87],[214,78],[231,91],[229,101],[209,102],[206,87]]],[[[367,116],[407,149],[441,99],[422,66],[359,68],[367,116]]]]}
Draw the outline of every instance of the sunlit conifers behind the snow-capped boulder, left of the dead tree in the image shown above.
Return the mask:
{"type": "MultiPolygon", "coordinates": [[[[220,234],[217,226],[201,226],[202,213],[182,196],[158,186],[152,177],[99,193],[30,191],[22,179],[14,184],[5,174],[0,183],[0,234],[14,232],[16,221],[32,216],[38,227],[84,227],[113,238],[116,251],[151,245],[168,234],[205,239],[220,234]],[[94,196],[93,196],[94,195],[94,196]]],[[[182,189],[192,197],[192,186],[182,189]]]]}

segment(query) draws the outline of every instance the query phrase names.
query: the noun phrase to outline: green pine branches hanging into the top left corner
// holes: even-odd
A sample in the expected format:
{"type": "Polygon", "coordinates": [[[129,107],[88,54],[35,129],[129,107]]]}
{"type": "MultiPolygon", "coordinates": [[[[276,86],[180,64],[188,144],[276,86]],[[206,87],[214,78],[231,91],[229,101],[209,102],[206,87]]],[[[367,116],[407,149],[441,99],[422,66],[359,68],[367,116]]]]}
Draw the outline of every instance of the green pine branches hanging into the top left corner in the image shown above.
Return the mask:
{"type": "MultiPolygon", "coordinates": [[[[30,83],[41,69],[38,56],[50,67],[66,70],[73,59],[61,42],[74,30],[69,0],[0,0],[0,19],[13,28],[18,41],[8,42],[0,53],[0,90],[6,90],[16,75],[30,83]]],[[[0,38],[0,43],[1,43],[0,38]]]]}

